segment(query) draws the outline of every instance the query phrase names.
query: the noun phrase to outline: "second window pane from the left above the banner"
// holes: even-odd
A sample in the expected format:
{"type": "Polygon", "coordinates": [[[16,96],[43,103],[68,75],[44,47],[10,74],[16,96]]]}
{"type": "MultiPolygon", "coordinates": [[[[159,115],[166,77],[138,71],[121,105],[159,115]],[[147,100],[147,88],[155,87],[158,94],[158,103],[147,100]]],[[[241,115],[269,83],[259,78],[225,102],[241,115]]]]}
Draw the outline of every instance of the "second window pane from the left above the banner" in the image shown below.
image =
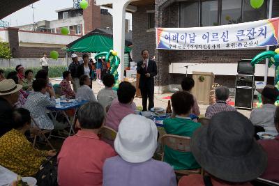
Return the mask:
{"type": "Polygon", "coordinates": [[[202,25],[218,25],[218,0],[202,1],[202,25]]]}

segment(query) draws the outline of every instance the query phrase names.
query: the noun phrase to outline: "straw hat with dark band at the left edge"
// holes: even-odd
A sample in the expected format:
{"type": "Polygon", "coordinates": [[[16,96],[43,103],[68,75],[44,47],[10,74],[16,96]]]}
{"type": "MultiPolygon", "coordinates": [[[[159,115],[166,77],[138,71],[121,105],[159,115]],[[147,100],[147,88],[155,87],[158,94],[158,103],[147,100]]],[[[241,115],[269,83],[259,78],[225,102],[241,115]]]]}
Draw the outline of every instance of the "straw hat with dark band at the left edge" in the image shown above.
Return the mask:
{"type": "Polygon", "coordinates": [[[22,89],[21,84],[15,84],[13,79],[3,79],[0,82],[0,95],[9,95],[22,89]]]}

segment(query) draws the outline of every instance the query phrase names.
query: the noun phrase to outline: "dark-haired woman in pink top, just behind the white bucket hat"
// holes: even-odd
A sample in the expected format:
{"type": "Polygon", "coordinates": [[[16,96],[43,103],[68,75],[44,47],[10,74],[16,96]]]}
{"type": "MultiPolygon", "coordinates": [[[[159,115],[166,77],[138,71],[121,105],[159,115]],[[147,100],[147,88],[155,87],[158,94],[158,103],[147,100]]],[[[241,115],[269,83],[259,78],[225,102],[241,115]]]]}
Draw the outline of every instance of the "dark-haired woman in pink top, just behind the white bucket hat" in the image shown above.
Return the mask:
{"type": "Polygon", "coordinates": [[[105,125],[118,131],[120,121],[128,114],[135,114],[135,86],[130,82],[121,82],[117,90],[118,99],[113,100],[105,125]]]}

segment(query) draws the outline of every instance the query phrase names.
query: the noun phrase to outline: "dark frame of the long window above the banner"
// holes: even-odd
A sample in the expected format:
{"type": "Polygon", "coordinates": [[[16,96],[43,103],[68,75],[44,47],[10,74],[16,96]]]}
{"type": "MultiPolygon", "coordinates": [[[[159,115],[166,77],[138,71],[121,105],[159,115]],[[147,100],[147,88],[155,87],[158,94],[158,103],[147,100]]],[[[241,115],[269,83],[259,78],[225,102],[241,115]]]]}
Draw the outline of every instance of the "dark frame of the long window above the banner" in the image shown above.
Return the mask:
{"type": "MultiPolygon", "coordinates": [[[[190,1],[199,3],[198,26],[202,27],[202,0],[190,0],[190,1]]],[[[190,1],[179,1],[179,17],[178,17],[179,18],[179,28],[181,28],[181,15],[182,15],[181,4],[184,2],[190,2],[190,1]]],[[[221,21],[222,20],[222,1],[223,0],[217,0],[217,1],[218,1],[218,13],[217,13],[218,25],[226,25],[226,24],[221,24],[221,22],[222,22],[221,21]]],[[[266,3],[266,19],[268,19],[269,1],[264,1],[264,3],[266,3]]],[[[244,22],[244,8],[243,7],[244,7],[244,0],[241,0],[241,22],[244,22]]]]}

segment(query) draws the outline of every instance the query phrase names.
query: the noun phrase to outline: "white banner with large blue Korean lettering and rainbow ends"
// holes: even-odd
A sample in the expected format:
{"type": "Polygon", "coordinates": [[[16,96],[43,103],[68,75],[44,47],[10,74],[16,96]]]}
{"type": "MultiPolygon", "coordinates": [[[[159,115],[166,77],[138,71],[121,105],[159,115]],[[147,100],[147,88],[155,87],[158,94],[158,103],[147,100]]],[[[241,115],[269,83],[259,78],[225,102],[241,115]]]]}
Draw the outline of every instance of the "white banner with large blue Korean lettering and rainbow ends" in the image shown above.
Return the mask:
{"type": "Polygon", "coordinates": [[[157,49],[245,49],[278,45],[279,17],[195,28],[156,28],[157,49]]]}

